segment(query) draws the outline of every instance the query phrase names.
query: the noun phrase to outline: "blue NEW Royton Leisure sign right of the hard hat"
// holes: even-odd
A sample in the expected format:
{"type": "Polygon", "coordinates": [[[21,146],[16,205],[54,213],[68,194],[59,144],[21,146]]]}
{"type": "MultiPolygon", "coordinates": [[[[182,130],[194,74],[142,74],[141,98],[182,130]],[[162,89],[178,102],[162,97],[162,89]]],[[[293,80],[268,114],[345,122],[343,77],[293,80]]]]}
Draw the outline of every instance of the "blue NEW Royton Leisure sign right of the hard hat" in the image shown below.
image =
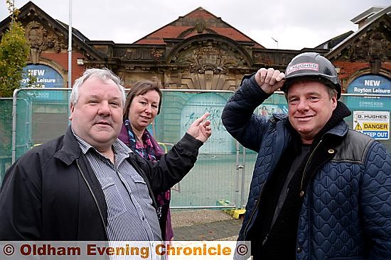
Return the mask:
{"type": "Polygon", "coordinates": [[[377,97],[348,96],[350,110],[390,111],[391,80],[380,75],[365,75],[353,80],[348,86],[348,94],[370,94],[377,97]]]}

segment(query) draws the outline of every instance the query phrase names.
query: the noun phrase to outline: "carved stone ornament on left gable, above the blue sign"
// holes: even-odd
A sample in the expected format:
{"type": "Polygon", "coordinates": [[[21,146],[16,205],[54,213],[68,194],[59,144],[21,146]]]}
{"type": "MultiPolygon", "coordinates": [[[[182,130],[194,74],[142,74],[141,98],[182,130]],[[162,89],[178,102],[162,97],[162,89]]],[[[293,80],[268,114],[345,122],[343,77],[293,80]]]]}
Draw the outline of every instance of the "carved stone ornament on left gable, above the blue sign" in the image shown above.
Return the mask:
{"type": "Polygon", "coordinates": [[[27,24],[26,38],[30,44],[30,56],[33,63],[39,62],[43,50],[53,49],[55,52],[60,52],[62,48],[65,48],[57,35],[48,35],[48,31],[36,21],[27,24]]]}

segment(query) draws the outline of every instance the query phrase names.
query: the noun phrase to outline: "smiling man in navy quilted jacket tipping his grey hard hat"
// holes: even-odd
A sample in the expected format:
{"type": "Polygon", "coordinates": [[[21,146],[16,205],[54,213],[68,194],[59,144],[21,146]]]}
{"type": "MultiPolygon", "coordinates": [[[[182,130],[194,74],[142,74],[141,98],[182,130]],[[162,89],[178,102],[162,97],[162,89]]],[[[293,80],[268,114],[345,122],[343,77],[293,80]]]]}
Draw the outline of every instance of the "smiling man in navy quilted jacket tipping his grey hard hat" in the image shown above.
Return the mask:
{"type": "Polygon", "coordinates": [[[225,128],[258,152],[239,241],[255,259],[391,259],[391,156],[350,130],[325,57],[259,69],[224,108],[225,128]],[[282,89],[288,115],[253,112],[282,89]]]}

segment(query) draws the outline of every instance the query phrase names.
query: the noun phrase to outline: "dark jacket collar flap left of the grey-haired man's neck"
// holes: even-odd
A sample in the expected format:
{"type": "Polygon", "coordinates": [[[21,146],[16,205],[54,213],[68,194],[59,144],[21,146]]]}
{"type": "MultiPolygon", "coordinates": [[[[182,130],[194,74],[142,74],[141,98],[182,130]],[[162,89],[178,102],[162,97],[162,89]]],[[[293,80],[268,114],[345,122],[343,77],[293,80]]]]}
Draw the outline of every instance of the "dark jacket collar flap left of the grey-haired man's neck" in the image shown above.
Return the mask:
{"type": "Polygon", "coordinates": [[[75,159],[80,157],[81,152],[82,149],[80,149],[71,127],[68,126],[65,135],[63,135],[63,147],[54,154],[54,157],[60,159],[65,164],[70,165],[75,159]]]}

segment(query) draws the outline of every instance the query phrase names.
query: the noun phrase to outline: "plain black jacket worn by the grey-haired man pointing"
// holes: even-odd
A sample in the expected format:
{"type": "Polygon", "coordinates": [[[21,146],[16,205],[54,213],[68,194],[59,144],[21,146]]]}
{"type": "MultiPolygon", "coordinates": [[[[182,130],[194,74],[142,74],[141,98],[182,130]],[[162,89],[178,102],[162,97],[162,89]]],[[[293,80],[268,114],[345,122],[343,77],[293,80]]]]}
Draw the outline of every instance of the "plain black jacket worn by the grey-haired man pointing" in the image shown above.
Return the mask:
{"type": "MultiPolygon", "coordinates": [[[[203,142],[186,135],[158,164],[127,159],[153,193],[166,191],[193,167],[203,142]]],[[[155,206],[154,202],[154,206],[155,206]]],[[[23,154],[0,190],[0,240],[107,240],[107,205],[70,127],[23,154]]]]}

